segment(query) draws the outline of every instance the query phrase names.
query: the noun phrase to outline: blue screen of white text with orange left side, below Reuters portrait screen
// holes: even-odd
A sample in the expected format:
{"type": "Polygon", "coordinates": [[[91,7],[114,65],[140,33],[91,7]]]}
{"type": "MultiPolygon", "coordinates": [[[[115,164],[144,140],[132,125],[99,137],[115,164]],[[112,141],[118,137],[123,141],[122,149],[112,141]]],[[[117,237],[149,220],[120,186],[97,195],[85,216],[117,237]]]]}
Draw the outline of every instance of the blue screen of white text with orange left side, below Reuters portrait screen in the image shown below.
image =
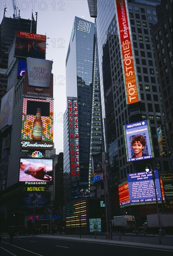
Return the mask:
{"type": "MultiPolygon", "coordinates": [[[[165,200],[158,170],[154,170],[158,202],[165,200]]],[[[152,172],[127,174],[127,181],[119,186],[120,206],[156,202],[152,172]]]]}

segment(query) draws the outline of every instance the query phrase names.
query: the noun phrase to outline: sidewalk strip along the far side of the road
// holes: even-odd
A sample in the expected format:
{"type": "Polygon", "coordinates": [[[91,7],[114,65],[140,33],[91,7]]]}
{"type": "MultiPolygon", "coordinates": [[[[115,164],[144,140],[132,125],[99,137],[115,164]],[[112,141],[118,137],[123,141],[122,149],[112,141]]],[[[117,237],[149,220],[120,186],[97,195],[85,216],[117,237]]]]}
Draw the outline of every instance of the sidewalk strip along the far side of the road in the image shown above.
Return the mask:
{"type": "Polygon", "coordinates": [[[113,234],[113,239],[106,239],[106,235],[37,235],[46,236],[51,238],[59,239],[71,239],[71,240],[81,240],[81,241],[91,241],[96,243],[111,243],[111,244],[123,244],[131,246],[140,246],[147,248],[157,248],[157,249],[167,249],[173,250],[173,236],[161,236],[161,244],[159,243],[158,236],[134,236],[134,235],[121,235],[119,238],[118,233],[113,234]]]}

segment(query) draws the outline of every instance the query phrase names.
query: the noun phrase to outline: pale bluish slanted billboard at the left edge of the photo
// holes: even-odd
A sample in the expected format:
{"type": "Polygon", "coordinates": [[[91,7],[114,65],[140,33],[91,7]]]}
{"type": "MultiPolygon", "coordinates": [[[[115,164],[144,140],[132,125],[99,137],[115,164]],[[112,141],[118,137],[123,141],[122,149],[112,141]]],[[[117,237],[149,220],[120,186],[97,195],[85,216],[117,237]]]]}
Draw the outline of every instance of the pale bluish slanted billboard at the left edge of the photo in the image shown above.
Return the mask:
{"type": "Polygon", "coordinates": [[[12,124],[13,114],[13,97],[15,87],[13,86],[7,94],[2,97],[0,108],[0,130],[6,126],[12,124]]]}

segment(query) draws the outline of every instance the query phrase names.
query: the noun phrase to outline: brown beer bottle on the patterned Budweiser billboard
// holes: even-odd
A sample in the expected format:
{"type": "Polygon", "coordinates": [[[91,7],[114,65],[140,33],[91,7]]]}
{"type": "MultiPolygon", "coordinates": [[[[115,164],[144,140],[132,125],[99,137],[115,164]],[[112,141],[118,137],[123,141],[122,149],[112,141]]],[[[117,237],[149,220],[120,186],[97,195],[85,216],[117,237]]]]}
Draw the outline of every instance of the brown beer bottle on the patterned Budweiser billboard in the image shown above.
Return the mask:
{"type": "Polygon", "coordinates": [[[35,120],[33,121],[33,141],[42,140],[43,122],[41,120],[41,109],[37,108],[35,120]]]}

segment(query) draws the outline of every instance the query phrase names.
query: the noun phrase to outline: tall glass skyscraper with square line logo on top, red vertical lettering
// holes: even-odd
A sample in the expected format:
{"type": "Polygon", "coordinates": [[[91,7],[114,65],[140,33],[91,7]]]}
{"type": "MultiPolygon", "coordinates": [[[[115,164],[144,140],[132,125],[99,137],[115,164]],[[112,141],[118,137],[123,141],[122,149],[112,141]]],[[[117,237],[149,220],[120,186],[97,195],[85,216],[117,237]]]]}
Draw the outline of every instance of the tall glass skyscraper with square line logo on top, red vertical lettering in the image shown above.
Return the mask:
{"type": "Polygon", "coordinates": [[[79,197],[84,190],[87,196],[95,195],[92,184],[92,155],[103,150],[95,34],[94,23],[75,17],[66,59],[68,99],[65,121],[68,127],[64,131],[64,172],[71,173],[72,190],[79,193],[72,193],[72,198],[79,197]],[[78,118],[75,119],[76,117],[78,118]],[[74,134],[76,130],[72,132],[72,128],[77,128],[78,133],[74,134]],[[77,136],[75,139],[78,141],[71,140],[73,136],[77,136]],[[73,157],[77,159],[75,165],[73,157]]]}

